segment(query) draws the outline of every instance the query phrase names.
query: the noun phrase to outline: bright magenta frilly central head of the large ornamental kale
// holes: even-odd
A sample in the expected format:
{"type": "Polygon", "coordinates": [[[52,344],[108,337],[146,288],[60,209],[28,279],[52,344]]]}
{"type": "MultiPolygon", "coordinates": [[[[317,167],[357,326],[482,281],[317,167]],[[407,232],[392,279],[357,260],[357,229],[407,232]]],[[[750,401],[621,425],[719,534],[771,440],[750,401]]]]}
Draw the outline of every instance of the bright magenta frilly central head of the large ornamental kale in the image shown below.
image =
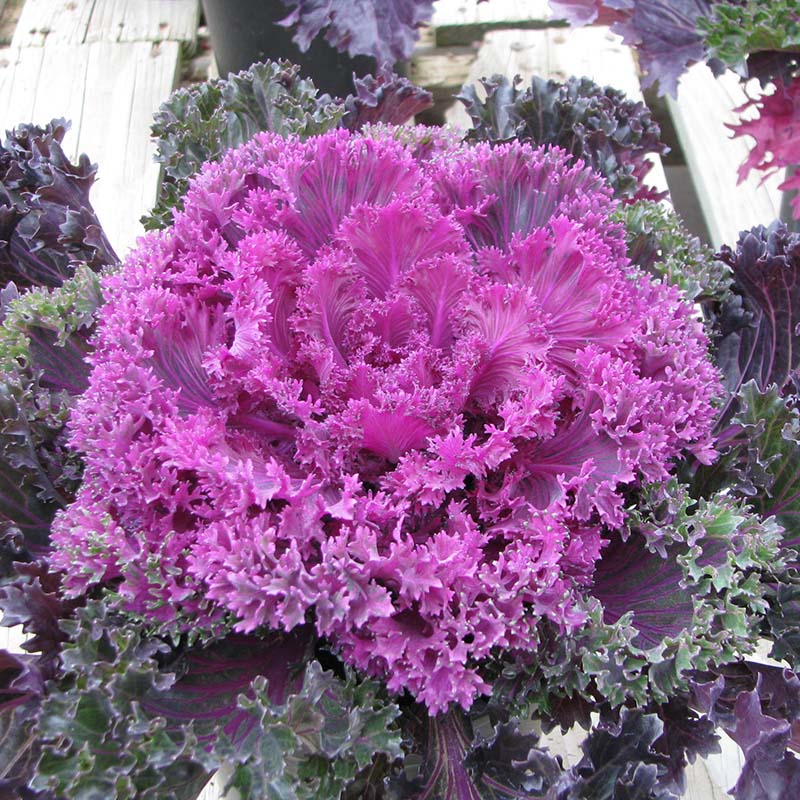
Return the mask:
{"type": "Polygon", "coordinates": [[[569,631],[625,493],[712,455],[719,379],[561,150],[260,134],[104,282],[57,517],[69,591],[312,623],[432,713],[569,631]]]}

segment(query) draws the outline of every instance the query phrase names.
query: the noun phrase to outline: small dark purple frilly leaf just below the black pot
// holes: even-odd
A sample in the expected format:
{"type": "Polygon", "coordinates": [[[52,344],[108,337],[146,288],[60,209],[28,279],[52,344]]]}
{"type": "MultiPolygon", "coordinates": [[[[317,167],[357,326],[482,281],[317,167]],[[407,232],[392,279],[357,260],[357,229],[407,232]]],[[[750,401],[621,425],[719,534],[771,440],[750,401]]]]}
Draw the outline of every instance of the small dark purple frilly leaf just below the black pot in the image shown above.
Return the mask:
{"type": "Polygon", "coordinates": [[[354,82],[356,93],[345,100],[342,125],[351,131],[369,123],[402,125],[433,105],[433,95],[384,68],[354,82]]]}

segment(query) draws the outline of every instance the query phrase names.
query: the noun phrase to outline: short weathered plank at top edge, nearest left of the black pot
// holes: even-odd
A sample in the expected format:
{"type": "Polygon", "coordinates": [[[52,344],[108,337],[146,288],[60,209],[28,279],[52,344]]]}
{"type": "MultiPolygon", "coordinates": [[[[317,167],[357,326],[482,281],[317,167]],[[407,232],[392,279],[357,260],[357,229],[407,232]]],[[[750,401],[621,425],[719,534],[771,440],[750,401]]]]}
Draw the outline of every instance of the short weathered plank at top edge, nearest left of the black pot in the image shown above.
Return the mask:
{"type": "Polygon", "coordinates": [[[103,0],[94,6],[87,42],[193,42],[198,0],[103,0]]]}

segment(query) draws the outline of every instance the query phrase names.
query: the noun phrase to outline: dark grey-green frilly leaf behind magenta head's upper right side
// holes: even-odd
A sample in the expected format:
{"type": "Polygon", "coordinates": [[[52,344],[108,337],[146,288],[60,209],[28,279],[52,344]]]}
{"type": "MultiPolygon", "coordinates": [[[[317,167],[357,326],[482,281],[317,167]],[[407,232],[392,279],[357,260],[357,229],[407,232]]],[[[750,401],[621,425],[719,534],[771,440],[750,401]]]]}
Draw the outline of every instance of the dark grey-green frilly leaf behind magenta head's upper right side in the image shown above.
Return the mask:
{"type": "Polygon", "coordinates": [[[472,118],[469,139],[558,145],[606,178],[616,197],[662,196],[644,185],[652,166],[648,156],[668,150],[644,103],[588,78],[558,83],[534,77],[524,91],[518,80],[499,75],[481,83],[485,99],[474,86],[465,87],[459,98],[472,118]]]}

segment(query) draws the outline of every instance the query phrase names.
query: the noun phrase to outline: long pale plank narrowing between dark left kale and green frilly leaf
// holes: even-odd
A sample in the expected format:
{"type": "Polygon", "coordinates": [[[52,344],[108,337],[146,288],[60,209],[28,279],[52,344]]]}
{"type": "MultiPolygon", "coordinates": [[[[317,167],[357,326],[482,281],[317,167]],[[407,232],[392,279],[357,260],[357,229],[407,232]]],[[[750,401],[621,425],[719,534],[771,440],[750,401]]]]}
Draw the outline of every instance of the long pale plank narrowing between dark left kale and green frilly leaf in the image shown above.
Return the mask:
{"type": "Polygon", "coordinates": [[[160,176],[149,133],[175,85],[178,42],[95,42],[89,48],[78,149],[99,164],[92,205],[123,255],[142,233],[160,176]]]}

